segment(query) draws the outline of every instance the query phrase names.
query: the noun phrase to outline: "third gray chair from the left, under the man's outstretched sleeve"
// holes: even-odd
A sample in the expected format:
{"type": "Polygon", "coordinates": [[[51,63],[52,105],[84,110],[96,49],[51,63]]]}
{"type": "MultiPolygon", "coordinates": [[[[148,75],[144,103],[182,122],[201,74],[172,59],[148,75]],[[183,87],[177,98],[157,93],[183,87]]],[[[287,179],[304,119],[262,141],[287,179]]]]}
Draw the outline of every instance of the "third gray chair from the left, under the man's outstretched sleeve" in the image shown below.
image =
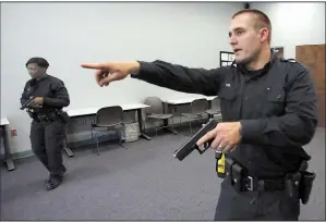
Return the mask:
{"type": "MultiPolygon", "coordinates": [[[[189,125],[190,125],[190,133],[192,133],[192,126],[191,123],[194,120],[203,119],[203,116],[206,116],[206,111],[208,110],[208,101],[207,99],[195,99],[190,104],[190,112],[189,113],[181,113],[181,116],[184,116],[189,119],[189,125]]],[[[181,120],[180,120],[181,122],[181,120]]]]}

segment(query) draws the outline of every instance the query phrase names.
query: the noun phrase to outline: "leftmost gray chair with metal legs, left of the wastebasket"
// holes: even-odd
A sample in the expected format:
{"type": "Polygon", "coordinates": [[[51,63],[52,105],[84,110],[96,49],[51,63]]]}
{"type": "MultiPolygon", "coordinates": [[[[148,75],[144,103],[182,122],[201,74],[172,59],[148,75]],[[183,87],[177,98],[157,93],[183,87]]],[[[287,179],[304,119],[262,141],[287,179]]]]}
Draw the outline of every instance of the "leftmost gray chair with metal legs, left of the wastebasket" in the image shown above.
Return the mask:
{"type": "MultiPolygon", "coordinates": [[[[123,135],[123,110],[119,106],[105,107],[97,111],[95,123],[92,123],[92,140],[93,134],[95,132],[96,145],[97,145],[97,155],[99,155],[99,140],[97,136],[98,132],[108,132],[116,131],[119,135],[119,145],[122,146],[122,135],[123,135]]],[[[125,147],[123,147],[125,148],[125,147]]]]}

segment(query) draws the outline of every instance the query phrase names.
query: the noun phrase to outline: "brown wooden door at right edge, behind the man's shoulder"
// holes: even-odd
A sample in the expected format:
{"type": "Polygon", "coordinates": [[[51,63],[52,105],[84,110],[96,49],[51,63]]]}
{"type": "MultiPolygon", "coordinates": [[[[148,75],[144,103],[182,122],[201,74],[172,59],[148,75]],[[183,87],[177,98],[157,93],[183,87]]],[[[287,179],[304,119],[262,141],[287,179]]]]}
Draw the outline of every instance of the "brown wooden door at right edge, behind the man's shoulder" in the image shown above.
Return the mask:
{"type": "Polygon", "coordinates": [[[318,126],[325,128],[325,44],[297,46],[295,60],[302,63],[315,82],[318,99],[318,126]]]}

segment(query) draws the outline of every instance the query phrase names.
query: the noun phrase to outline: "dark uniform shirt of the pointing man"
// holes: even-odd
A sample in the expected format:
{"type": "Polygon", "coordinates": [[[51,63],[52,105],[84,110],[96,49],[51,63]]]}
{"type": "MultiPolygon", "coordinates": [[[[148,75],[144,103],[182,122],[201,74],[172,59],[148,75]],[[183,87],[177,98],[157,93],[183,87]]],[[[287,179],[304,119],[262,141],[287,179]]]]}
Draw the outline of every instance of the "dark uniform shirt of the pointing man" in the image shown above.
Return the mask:
{"type": "Polygon", "coordinates": [[[241,65],[190,69],[164,61],[140,62],[133,78],[169,89],[218,96],[224,122],[242,124],[239,146],[227,153],[261,178],[295,171],[310,156],[303,146],[317,126],[317,97],[310,72],[293,60],[278,59],[259,71],[241,65]]]}

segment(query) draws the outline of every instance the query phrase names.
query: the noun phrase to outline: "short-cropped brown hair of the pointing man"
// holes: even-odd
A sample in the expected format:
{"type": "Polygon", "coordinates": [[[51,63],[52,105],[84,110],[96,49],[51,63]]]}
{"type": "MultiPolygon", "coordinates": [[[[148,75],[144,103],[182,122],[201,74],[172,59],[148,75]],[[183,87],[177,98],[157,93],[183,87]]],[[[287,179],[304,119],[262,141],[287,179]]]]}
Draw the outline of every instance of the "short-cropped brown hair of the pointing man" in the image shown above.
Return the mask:
{"type": "Polygon", "coordinates": [[[264,12],[262,12],[259,10],[244,9],[244,10],[241,10],[241,11],[234,13],[232,15],[232,18],[234,18],[237,15],[244,14],[244,13],[250,13],[250,14],[254,15],[254,17],[255,17],[255,22],[254,22],[255,29],[258,30],[263,27],[266,27],[268,29],[268,32],[269,32],[268,41],[270,42],[270,39],[271,39],[271,23],[270,23],[269,17],[264,12]]]}

